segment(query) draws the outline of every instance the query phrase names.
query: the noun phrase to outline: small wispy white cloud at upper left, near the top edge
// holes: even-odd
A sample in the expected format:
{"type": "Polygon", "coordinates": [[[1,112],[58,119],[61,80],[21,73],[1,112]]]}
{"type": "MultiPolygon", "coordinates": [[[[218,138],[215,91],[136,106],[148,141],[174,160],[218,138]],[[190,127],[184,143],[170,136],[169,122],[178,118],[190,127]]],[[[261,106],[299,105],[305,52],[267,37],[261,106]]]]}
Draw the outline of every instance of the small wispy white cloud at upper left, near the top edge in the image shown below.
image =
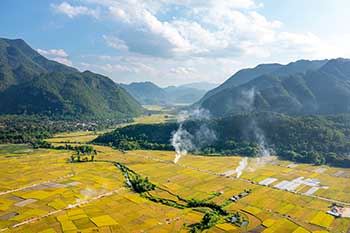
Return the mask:
{"type": "Polygon", "coordinates": [[[79,15],[88,15],[94,18],[99,18],[99,10],[89,9],[86,6],[72,6],[67,2],[62,2],[59,5],[52,4],[52,8],[61,14],[67,15],[69,18],[74,18],[79,15]]]}

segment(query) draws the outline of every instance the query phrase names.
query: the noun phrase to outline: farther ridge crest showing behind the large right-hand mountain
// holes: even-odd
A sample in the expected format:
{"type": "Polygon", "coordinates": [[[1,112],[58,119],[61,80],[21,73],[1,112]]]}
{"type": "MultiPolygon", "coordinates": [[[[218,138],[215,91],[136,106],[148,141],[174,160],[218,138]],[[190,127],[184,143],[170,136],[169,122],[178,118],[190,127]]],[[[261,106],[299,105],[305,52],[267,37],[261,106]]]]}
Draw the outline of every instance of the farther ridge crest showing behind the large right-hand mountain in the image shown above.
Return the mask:
{"type": "Polygon", "coordinates": [[[234,75],[232,75],[223,84],[209,91],[199,101],[199,103],[204,102],[206,99],[210,98],[211,96],[221,91],[224,91],[225,89],[243,85],[262,75],[271,74],[271,75],[278,75],[278,76],[279,75],[286,76],[286,75],[292,75],[296,73],[305,73],[309,70],[319,69],[326,62],[327,60],[320,60],[320,61],[299,60],[296,62],[291,62],[287,65],[281,65],[278,63],[261,64],[256,66],[255,68],[242,69],[237,73],[235,73],[234,75]]]}

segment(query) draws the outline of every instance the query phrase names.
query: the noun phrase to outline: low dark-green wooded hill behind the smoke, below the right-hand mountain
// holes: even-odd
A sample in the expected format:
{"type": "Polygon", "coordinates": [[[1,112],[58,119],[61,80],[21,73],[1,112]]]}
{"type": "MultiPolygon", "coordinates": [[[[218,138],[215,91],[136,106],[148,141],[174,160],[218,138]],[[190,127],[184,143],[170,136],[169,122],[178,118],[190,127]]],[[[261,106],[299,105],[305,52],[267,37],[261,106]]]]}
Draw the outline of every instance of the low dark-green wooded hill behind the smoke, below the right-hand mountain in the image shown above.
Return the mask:
{"type": "MultiPolygon", "coordinates": [[[[260,112],[188,121],[183,128],[194,136],[194,144],[203,124],[216,140],[198,143],[193,153],[254,157],[264,146],[283,159],[350,167],[350,115],[293,117],[260,112]]],[[[94,143],[121,150],[173,150],[170,141],[178,127],[177,123],[132,125],[101,135],[94,143]]]]}

